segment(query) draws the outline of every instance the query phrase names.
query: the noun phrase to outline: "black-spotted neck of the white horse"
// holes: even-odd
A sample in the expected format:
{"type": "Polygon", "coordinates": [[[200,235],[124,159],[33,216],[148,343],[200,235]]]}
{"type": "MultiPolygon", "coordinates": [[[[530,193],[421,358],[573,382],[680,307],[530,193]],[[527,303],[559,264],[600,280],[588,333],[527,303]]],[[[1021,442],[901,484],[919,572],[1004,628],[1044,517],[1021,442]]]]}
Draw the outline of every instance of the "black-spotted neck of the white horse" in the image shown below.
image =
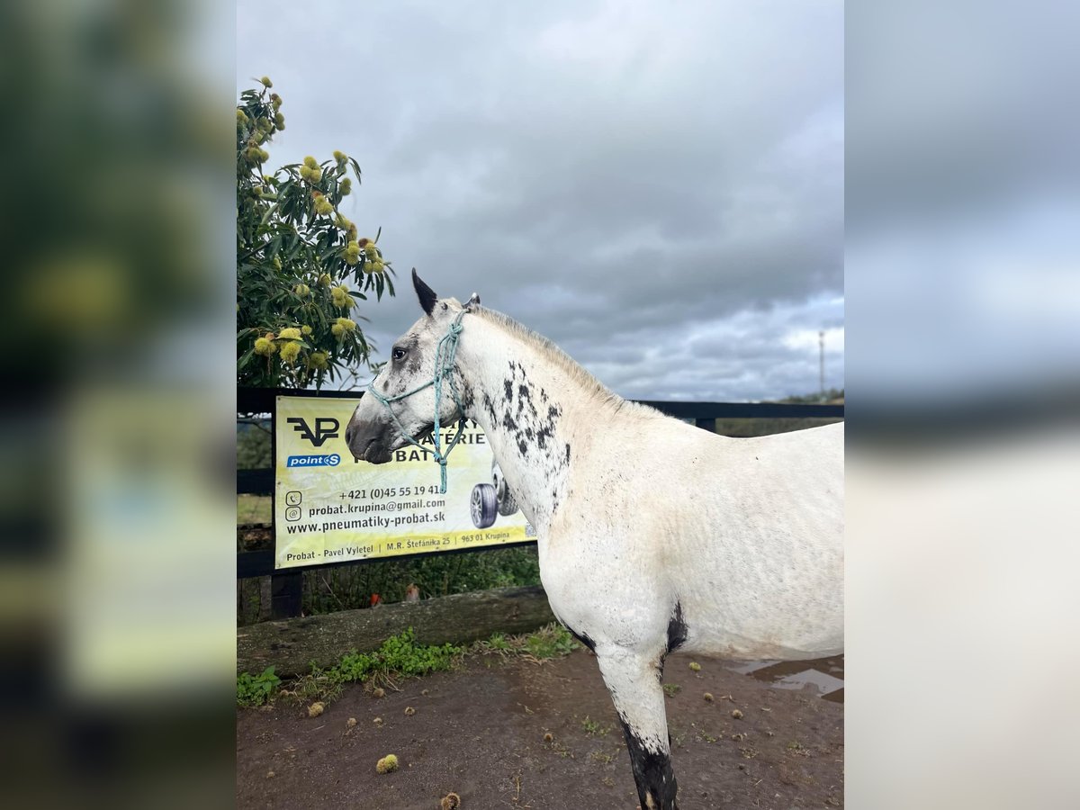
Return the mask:
{"type": "Polygon", "coordinates": [[[590,392],[542,347],[499,324],[467,318],[458,348],[465,416],[487,435],[532,525],[544,530],[565,499],[582,450],[590,392]]]}

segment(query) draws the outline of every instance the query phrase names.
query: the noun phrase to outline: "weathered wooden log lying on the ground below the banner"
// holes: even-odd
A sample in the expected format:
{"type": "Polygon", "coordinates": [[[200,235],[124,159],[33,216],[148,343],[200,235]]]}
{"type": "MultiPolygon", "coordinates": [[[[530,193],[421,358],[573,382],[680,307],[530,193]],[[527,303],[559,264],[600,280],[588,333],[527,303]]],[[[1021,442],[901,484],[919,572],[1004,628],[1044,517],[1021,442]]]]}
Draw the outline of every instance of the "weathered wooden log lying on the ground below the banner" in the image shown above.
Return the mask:
{"type": "Polygon", "coordinates": [[[530,633],[555,621],[543,588],[499,588],[365,610],[260,622],[237,629],[237,672],[281,676],[332,666],[350,650],[367,652],[408,627],[421,644],[469,644],[492,633],[530,633]]]}

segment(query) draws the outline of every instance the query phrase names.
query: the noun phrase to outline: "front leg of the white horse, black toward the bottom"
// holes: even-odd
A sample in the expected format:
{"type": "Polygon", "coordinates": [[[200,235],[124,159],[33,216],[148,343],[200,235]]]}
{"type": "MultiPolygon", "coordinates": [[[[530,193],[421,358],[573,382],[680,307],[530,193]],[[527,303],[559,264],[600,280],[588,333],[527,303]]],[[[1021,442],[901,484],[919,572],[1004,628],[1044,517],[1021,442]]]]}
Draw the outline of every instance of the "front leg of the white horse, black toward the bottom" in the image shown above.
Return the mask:
{"type": "Polygon", "coordinates": [[[600,646],[595,652],[622,721],[642,810],[678,810],[659,654],[600,646]]]}

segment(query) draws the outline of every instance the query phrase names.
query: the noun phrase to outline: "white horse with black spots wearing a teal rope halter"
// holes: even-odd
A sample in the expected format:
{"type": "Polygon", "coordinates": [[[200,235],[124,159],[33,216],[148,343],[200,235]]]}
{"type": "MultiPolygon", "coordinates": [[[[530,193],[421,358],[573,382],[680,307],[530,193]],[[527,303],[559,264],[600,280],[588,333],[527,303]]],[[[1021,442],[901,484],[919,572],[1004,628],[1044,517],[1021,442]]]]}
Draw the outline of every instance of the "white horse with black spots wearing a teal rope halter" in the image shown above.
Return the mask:
{"type": "Polygon", "coordinates": [[[718,436],[626,402],[476,296],[413,284],[424,316],[356,407],[350,450],[383,463],[436,423],[480,423],[552,611],[596,653],[643,810],[676,808],[664,656],[843,648],[842,423],[718,436]]]}

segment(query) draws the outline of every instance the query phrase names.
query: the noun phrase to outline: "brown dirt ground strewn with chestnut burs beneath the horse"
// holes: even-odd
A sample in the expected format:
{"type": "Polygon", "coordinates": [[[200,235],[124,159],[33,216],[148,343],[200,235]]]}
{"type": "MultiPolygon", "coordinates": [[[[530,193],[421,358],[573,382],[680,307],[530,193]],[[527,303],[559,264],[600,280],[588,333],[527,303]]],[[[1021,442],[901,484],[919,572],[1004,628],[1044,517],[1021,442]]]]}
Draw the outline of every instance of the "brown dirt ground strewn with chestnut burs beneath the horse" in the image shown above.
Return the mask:
{"type": "MultiPolygon", "coordinates": [[[[777,689],[730,664],[692,660],[700,672],[689,656],[669,657],[664,677],[680,687],[666,703],[683,810],[842,807],[839,693],[777,689]]],[[[453,791],[461,810],[637,807],[622,731],[590,652],[542,664],[475,657],[461,671],[400,686],[381,699],[351,686],[315,718],[282,700],[238,711],[237,806],[437,810],[453,791]],[[387,754],[401,767],[380,775],[375,764],[387,754]]]]}

